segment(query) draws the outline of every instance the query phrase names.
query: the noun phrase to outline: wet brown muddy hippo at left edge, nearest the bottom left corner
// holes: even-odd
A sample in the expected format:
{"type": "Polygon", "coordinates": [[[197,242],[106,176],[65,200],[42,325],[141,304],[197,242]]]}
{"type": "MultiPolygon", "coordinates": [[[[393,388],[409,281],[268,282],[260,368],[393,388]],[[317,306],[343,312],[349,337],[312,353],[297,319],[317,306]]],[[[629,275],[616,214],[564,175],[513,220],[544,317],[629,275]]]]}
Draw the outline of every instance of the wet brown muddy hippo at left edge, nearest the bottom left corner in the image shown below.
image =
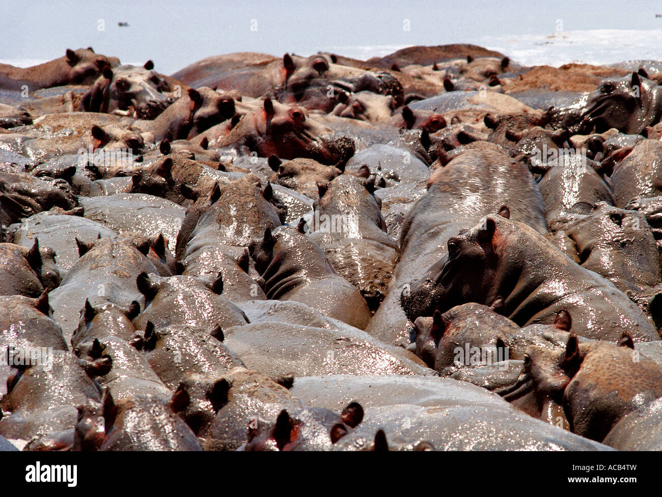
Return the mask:
{"type": "Polygon", "coordinates": [[[0,404],[5,413],[0,419],[4,437],[27,441],[70,430],[76,423],[77,406],[99,405],[99,386],[77,357],[67,351],[50,351],[49,357],[28,368],[14,368],[9,392],[0,404]]]}

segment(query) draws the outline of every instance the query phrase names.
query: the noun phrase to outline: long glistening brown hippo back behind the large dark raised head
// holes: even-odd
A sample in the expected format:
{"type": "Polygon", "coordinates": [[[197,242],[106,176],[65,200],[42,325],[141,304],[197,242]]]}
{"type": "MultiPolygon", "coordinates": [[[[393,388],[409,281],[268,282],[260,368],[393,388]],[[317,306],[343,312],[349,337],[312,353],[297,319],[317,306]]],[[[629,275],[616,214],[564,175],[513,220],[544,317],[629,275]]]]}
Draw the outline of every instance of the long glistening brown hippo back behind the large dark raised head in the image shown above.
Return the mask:
{"type": "MultiPolygon", "coordinates": [[[[446,254],[450,237],[469,229],[480,217],[498,211],[504,204],[510,207],[513,219],[546,233],[540,191],[528,168],[509,156],[466,150],[435,170],[428,181],[427,193],[412,205],[402,223],[400,261],[393,272],[387,298],[375,313],[368,333],[386,343],[407,344],[412,323],[398,305],[399,294],[409,288],[405,285],[418,280],[426,265],[446,254]],[[480,182],[476,178],[481,178],[480,182]]],[[[430,309],[413,315],[413,319],[433,313],[434,309],[430,309]]]]}

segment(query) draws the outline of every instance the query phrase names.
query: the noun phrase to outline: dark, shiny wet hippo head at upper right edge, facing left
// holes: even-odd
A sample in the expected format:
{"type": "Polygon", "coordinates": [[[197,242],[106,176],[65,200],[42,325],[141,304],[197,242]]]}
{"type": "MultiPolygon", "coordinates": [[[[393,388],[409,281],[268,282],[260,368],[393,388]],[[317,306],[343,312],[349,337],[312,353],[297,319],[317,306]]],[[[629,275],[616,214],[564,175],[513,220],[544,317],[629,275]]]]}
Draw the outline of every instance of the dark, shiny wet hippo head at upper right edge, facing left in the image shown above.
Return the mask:
{"type": "Polygon", "coordinates": [[[580,110],[582,121],[589,121],[596,133],[616,128],[629,135],[656,124],[661,112],[659,86],[636,72],[600,83],[580,110]]]}

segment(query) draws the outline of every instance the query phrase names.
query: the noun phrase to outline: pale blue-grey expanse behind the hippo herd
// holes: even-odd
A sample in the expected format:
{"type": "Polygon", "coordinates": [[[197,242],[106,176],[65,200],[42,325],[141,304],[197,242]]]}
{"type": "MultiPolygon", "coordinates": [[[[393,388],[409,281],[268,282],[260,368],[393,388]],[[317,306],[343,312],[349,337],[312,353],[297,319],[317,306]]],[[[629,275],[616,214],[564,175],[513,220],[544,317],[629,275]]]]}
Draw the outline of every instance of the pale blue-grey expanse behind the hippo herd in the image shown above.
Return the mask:
{"type": "Polygon", "coordinates": [[[164,74],[230,52],[324,50],[365,59],[404,46],[460,42],[500,48],[517,60],[508,50],[544,57],[545,45],[558,47],[563,34],[574,40],[577,32],[581,41],[566,43],[557,58],[583,60],[597,38],[601,58],[662,50],[662,17],[655,17],[662,1],[651,0],[1,0],[0,10],[0,60],[23,66],[87,46],[123,63],[152,59],[164,74]],[[610,41],[616,50],[609,50],[610,41]],[[630,51],[619,52],[622,46],[630,51]]]}

